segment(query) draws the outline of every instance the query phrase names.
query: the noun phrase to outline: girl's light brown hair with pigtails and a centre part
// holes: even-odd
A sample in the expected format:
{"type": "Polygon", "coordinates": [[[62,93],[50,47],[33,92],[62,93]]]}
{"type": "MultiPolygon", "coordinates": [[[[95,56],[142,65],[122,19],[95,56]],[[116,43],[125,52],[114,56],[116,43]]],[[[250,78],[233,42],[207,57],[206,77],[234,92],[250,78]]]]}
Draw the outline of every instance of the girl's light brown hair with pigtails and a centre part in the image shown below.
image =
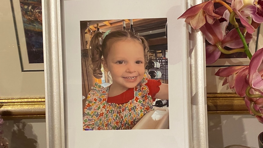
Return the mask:
{"type": "Polygon", "coordinates": [[[149,45],[145,38],[135,35],[131,31],[113,31],[107,34],[104,39],[102,36],[103,33],[98,31],[95,32],[90,42],[91,48],[88,50],[88,66],[95,78],[102,78],[102,56],[107,59],[111,45],[120,40],[134,39],[142,43],[144,50],[144,66],[146,67],[148,63],[149,45]]]}

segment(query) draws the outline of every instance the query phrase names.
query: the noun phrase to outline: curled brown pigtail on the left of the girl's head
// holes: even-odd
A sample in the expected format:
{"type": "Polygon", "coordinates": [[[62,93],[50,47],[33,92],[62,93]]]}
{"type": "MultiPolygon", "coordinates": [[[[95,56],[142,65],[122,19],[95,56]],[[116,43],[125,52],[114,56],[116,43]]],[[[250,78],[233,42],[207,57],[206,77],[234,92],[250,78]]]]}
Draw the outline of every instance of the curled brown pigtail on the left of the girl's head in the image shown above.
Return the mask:
{"type": "Polygon", "coordinates": [[[90,49],[88,49],[88,67],[89,71],[92,72],[92,75],[100,79],[102,78],[102,71],[101,71],[101,58],[102,58],[102,51],[101,51],[101,37],[103,33],[97,31],[90,41],[90,49]]]}

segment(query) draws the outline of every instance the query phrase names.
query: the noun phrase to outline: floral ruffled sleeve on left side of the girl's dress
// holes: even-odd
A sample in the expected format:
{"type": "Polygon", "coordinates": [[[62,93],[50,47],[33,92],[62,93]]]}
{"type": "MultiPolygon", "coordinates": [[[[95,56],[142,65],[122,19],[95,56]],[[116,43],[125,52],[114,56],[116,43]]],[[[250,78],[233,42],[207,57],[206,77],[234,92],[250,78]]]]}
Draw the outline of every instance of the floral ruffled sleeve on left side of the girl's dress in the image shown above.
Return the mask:
{"type": "Polygon", "coordinates": [[[99,83],[95,83],[91,88],[91,91],[88,93],[86,106],[84,108],[85,114],[83,114],[83,129],[84,130],[93,130],[94,121],[96,118],[96,110],[98,104],[101,101],[101,92],[103,91],[103,86],[99,83]]]}

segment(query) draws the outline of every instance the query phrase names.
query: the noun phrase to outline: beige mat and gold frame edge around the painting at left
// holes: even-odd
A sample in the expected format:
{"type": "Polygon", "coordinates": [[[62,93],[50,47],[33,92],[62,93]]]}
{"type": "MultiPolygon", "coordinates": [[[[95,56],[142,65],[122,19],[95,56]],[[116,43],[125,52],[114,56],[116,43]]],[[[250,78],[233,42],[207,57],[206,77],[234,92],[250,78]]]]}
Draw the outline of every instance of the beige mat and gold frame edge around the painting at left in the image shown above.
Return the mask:
{"type": "Polygon", "coordinates": [[[0,114],[5,118],[45,118],[43,67],[42,71],[22,72],[12,8],[20,11],[19,0],[2,1],[0,5],[0,20],[4,22],[0,24],[0,114]]]}

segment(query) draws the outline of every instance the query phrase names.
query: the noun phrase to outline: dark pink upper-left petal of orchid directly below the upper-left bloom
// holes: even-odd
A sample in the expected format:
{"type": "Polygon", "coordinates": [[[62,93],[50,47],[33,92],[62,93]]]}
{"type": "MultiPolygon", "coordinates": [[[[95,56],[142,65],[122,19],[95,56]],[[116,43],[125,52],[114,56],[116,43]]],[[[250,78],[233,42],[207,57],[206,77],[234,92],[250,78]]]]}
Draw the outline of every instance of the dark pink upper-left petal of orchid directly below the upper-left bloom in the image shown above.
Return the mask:
{"type": "Polygon", "coordinates": [[[207,41],[213,45],[223,40],[223,31],[218,20],[214,24],[205,23],[199,30],[204,34],[207,41]]]}

